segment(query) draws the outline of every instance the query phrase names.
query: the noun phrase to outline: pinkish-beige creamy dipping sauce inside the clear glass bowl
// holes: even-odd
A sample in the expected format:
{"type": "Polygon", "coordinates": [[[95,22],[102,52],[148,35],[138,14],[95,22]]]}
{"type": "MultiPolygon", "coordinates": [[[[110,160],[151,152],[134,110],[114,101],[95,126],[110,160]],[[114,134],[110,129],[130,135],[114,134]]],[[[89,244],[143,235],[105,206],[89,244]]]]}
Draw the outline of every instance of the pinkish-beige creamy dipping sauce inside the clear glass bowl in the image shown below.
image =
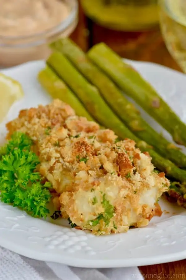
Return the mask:
{"type": "Polygon", "coordinates": [[[0,36],[30,36],[57,26],[70,13],[62,0],[0,0],[0,36]]]}

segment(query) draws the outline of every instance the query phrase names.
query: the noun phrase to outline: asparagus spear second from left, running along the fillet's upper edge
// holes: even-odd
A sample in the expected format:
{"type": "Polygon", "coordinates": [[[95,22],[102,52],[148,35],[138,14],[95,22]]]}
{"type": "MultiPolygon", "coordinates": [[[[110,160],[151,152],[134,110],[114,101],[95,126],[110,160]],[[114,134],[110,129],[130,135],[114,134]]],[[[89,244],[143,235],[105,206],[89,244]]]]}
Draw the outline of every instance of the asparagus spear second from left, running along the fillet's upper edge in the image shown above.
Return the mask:
{"type": "MultiPolygon", "coordinates": [[[[99,123],[112,129],[122,139],[133,139],[142,152],[149,152],[157,169],[180,182],[186,181],[186,171],[179,169],[171,161],[158,155],[147,143],[139,140],[108,107],[97,88],[87,82],[62,54],[57,52],[51,54],[47,63],[68,84],[99,123]]],[[[77,114],[81,114],[81,112],[79,111],[77,114]]]]}

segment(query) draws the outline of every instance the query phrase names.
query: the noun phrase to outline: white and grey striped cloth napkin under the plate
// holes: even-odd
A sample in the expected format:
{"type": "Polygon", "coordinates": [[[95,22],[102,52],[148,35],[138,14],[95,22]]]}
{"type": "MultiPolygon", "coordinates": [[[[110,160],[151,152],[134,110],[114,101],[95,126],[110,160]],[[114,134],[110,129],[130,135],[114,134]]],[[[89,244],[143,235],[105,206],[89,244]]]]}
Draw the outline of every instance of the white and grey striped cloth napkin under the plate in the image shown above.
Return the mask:
{"type": "Polygon", "coordinates": [[[42,262],[0,247],[0,280],[143,280],[137,267],[74,268],[42,262]]]}

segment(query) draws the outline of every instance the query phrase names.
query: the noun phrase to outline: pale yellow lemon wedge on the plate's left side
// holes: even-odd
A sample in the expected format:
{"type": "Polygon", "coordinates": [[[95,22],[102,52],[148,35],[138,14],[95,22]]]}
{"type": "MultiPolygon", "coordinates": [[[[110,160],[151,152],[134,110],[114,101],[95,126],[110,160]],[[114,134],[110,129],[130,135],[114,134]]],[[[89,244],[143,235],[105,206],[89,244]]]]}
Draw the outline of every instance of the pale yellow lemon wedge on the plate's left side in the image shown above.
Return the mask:
{"type": "Polygon", "coordinates": [[[15,101],[24,96],[21,84],[0,73],[0,123],[6,117],[15,101]]]}

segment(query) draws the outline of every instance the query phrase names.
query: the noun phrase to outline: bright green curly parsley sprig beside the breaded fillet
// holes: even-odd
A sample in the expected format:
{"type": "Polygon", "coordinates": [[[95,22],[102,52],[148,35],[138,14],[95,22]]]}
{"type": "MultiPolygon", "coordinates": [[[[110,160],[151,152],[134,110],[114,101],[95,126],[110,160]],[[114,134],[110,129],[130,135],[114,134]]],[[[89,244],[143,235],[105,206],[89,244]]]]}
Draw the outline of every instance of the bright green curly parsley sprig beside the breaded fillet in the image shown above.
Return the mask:
{"type": "Polygon", "coordinates": [[[32,140],[26,134],[16,132],[0,149],[0,199],[33,217],[46,218],[51,184],[42,184],[41,175],[34,172],[39,158],[30,151],[31,146],[32,140]]]}

